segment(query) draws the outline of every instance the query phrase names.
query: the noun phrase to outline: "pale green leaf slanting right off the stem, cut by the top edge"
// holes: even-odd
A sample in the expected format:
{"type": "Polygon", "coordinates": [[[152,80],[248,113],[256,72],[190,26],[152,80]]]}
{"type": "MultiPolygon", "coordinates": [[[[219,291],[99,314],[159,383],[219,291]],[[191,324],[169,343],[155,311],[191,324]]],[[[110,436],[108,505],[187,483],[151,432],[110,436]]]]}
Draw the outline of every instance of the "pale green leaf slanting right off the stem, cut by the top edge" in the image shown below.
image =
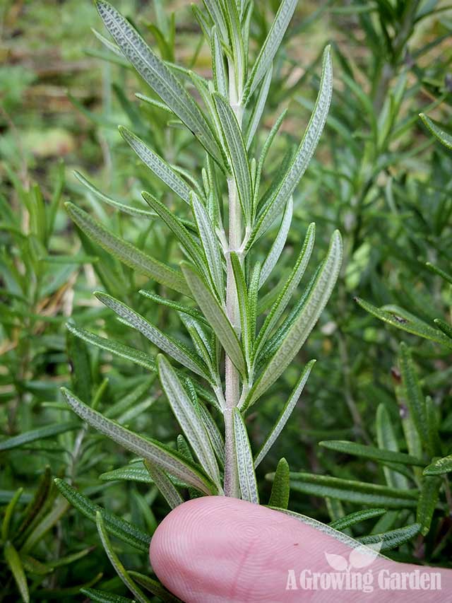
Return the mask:
{"type": "Polygon", "coordinates": [[[268,73],[296,7],[297,0],[283,0],[281,2],[275,20],[270,27],[265,42],[263,42],[261,51],[258,54],[251,75],[249,76],[249,80],[246,83],[242,99],[243,105],[246,105],[250,96],[254,93],[254,90],[256,90],[258,83],[268,73]]]}

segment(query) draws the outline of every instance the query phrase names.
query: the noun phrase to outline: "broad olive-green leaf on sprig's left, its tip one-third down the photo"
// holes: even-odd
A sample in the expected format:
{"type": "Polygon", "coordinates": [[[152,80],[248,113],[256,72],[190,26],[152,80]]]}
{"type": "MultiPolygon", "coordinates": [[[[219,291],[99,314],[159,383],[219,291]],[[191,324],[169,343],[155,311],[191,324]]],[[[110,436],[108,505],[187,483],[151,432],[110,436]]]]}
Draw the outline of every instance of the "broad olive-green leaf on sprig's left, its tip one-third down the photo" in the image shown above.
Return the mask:
{"type": "Polygon", "coordinates": [[[95,221],[91,216],[79,209],[72,203],[66,203],[66,209],[69,216],[76,223],[85,235],[97,242],[102,249],[119,259],[120,262],[136,270],[139,274],[144,274],[157,283],[165,285],[179,293],[189,294],[189,289],[177,271],[169,268],[162,262],[158,262],[153,257],[137,249],[131,243],[122,240],[111,233],[107,228],[95,221]]]}

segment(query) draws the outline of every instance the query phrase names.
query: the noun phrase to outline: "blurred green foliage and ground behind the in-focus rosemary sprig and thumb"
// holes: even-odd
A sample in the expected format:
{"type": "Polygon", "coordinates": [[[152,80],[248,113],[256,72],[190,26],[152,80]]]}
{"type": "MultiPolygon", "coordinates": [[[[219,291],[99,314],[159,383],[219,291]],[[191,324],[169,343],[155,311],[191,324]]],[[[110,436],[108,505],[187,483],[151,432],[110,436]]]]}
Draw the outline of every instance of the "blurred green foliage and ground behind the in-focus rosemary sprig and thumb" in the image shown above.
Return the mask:
{"type": "MultiPolygon", "coordinates": [[[[209,76],[208,49],[200,43],[189,3],[122,0],[114,5],[162,57],[209,76]]],[[[254,49],[277,8],[278,1],[256,2],[254,49]]],[[[142,189],[169,204],[173,199],[126,148],[117,124],[185,169],[201,157],[184,131],[167,127],[164,110],[134,96],[149,90],[100,44],[92,27],[100,30],[100,22],[88,1],[4,0],[0,7],[0,601],[20,596],[82,600],[81,587],[100,582],[103,590],[126,595],[92,518],[59,496],[52,477],[64,477],[93,502],[150,534],[167,513],[149,484],[100,477],[125,465],[130,455],[83,427],[59,397],[59,387],[71,384],[82,399],[102,405],[108,416],[135,431],[163,441],[177,435],[153,375],[88,346],[65,328],[71,320],[147,349],[139,334],[95,300],[93,291],[103,289],[153,317],[165,332],[178,329],[165,308],[138,295],[143,286],[162,291],[78,233],[63,201],[88,209],[110,230],[152,249],[157,259],[177,259],[174,240],[160,223],[103,204],[73,170],[112,199],[143,209],[142,189]]],[[[431,401],[441,453],[451,452],[450,348],[385,326],[354,301],[359,296],[375,306],[396,305],[430,325],[435,318],[451,318],[450,284],[427,262],[450,271],[452,155],[418,117],[425,112],[446,129],[451,126],[451,29],[446,1],[304,1],[278,54],[263,134],[286,107],[288,115],[270,153],[267,177],[287,161],[287,146],[302,136],[328,42],[335,75],[326,130],[295,194],[295,222],[280,279],[290,270],[292,247],[297,252],[310,221],[317,223],[319,257],[333,228],[340,228],[345,262],[299,362],[249,418],[257,449],[299,367],[318,359],[284,435],[259,469],[263,500],[270,492],[266,473],[282,456],[295,472],[385,483],[380,464],[318,444],[337,439],[376,445],[376,414],[383,408],[378,412],[391,420],[404,450],[400,341],[410,347],[422,395],[431,401]]],[[[273,279],[277,289],[278,277],[273,279]]],[[[394,315],[403,327],[405,319],[394,315]]],[[[326,496],[302,479],[293,486],[290,508],[324,522],[362,506],[340,492],[326,496]]],[[[388,554],[450,563],[451,511],[445,483],[428,534],[388,554]]],[[[407,525],[410,513],[387,513],[385,529],[407,525]]],[[[372,529],[376,526],[364,522],[350,533],[360,536],[372,529]]],[[[148,573],[146,554],[127,546],[121,551],[126,566],[148,573]]]]}

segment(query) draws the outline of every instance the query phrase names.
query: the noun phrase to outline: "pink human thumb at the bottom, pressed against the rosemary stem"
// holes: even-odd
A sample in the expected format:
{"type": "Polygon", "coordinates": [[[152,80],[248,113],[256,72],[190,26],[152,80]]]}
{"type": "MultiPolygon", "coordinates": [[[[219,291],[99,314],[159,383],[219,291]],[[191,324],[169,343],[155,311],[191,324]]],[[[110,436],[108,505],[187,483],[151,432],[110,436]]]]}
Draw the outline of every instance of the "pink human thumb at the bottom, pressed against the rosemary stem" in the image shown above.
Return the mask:
{"type": "MultiPolygon", "coordinates": [[[[348,563],[351,550],[284,513],[236,498],[207,496],[179,505],[165,517],[153,536],[150,561],[160,581],[186,603],[326,602],[340,593],[319,585],[314,589],[309,582],[303,586],[300,573],[307,570],[308,578],[335,573],[326,554],[343,556],[348,563]]],[[[416,566],[379,557],[370,568],[372,589],[347,589],[348,601],[406,601],[407,590],[380,590],[377,574],[412,572],[416,566]]],[[[441,577],[443,589],[452,586],[450,570],[421,569],[441,572],[439,586],[441,577]]],[[[409,596],[411,601],[439,601],[441,590],[409,596]]]]}

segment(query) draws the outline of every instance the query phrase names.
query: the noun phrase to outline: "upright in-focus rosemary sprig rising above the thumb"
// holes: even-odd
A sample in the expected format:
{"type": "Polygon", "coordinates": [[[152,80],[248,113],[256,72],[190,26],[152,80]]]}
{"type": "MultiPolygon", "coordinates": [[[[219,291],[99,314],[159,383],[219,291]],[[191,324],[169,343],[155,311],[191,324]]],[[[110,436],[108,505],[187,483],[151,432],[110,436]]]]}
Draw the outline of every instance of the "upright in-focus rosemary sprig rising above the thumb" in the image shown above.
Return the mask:
{"type": "MultiPolygon", "coordinates": [[[[169,337],[123,301],[106,293],[95,295],[157,346],[161,355],[153,358],[73,324],[69,324],[69,329],[85,341],[157,371],[184,436],[179,438],[178,449],[174,449],[102,416],[69,390],[63,390],[64,397],[90,426],[143,458],[171,507],[183,501],[181,486],[207,495],[224,493],[258,503],[256,467],[285,426],[314,361],[300,368],[295,389],[254,457],[244,422],[246,412],[294,361],[319,319],[340,271],[342,243],[335,231],[325,259],[311,281],[299,290],[314,247],[315,227],[311,224],[302,244],[300,240],[299,256],[280,291],[273,297],[261,293],[285,246],[292,218],[292,194],[326,122],[332,90],[330,51],[326,48],[323,54],[319,94],[302,141],[290,160],[283,162],[275,180],[263,190],[261,175],[266,156],[284,114],[275,122],[260,154],[254,157],[256,137],[273,59],[297,0],[281,2],[252,65],[249,30],[253,3],[204,0],[205,11],[195,7],[212,54],[213,77],[209,81],[160,59],[113,6],[105,0],[96,4],[114,41],[99,35],[100,39],[110,50],[124,55],[160,100],[142,95],[140,98],[154,105],[163,103],[179,125],[183,124],[201,144],[205,161],[198,165],[196,174],[189,174],[167,163],[138,136],[120,127],[121,135],[138,158],[172,190],[179,205],[188,204],[191,210],[192,218],[187,221],[182,218],[182,211],[179,215],[172,213],[162,201],[143,192],[143,199],[150,206],[150,211],[139,210],[143,219],[160,218],[182,247],[184,261],[177,269],[121,240],[73,204],[67,204],[67,209],[85,235],[127,266],[160,283],[162,295],[154,291],[141,293],[150,303],[178,312],[193,345],[169,337]],[[187,90],[189,87],[196,99],[187,90]],[[265,260],[258,262],[256,249],[276,221],[280,226],[275,240],[265,260]],[[209,406],[222,415],[224,436],[209,406]]],[[[95,189],[93,192],[108,201],[105,195],[95,189]]],[[[132,211],[126,206],[119,209],[132,211]]],[[[62,482],[59,487],[65,491],[62,482]]],[[[274,499],[273,505],[284,503],[274,499]]]]}

